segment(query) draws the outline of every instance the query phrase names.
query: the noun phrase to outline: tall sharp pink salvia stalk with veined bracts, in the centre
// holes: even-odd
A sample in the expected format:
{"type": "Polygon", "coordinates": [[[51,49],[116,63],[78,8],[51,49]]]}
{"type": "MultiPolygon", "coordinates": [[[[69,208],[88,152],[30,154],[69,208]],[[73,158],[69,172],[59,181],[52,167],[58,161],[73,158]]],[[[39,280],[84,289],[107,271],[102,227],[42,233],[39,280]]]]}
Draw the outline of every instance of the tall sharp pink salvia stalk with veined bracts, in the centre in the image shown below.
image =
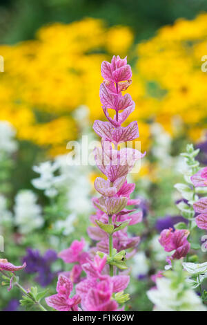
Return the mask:
{"type": "MultiPolygon", "coordinates": [[[[101,75],[104,80],[100,87],[100,100],[108,122],[96,120],[93,129],[101,137],[101,148],[95,149],[95,160],[97,167],[107,177],[107,180],[100,177],[95,180],[95,189],[101,194],[101,198],[95,200],[94,203],[99,212],[101,210],[103,214],[107,214],[108,223],[106,219],[101,221],[101,218],[95,221],[99,228],[108,234],[108,260],[112,261],[115,232],[124,230],[130,222],[132,224],[135,216],[137,222],[141,221],[140,214],[128,216],[133,210],[125,209],[126,205],[136,203],[129,198],[135,185],[128,184],[126,177],[136,161],[144,155],[132,148],[118,149],[121,143],[139,137],[136,121],[131,122],[127,127],[121,126],[135,109],[132,97],[128,93],[122,95],[122,91],[126,91],[132,82],[132,71],[126,58],[120,59],[119,56],[114,56],[111,63],[103,61],[101,75]],[[109,109],[115,111],[113,118],[108,113],[109,109]]],[[[103,250],[103,252],[106,251],[103,250]]],[[[110,276],[113,276],[115,264],[110,262],[109,264],[110,276]]]]}

